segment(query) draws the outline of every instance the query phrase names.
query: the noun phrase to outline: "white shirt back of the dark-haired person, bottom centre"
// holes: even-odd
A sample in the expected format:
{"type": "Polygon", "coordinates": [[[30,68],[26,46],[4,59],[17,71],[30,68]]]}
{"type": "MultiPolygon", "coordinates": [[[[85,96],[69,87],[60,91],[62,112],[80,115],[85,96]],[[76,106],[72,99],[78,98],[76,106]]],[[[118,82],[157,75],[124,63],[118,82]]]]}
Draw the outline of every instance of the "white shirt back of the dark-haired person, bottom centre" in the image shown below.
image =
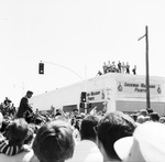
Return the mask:
{"type": "Polygon", "coordinates": [[[66,162],[103,162],[103,158],[95,142],[82,140],[75,145],[73,158],[66,162]]]}

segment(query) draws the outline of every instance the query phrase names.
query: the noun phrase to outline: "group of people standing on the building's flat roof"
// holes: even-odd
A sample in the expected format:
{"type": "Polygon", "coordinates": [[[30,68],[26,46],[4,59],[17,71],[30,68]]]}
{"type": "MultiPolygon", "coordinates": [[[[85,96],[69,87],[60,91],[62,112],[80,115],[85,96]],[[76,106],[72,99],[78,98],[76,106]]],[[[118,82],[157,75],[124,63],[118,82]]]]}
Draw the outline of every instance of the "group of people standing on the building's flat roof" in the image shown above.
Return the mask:
{"type": "MultiPolygon", "coordinates": [[[[116,62],[108,61],[108,64],[105,62],[102,66],[103,72],[98,72],[99,75],[107,74],[107,73],[122,73],[122,74],[130,74],[130,64],[129,62],[118,62],[116,65],[116,62]]],[[[136,75],[136,65],[132,68],[132,74],[136,75]]]]}

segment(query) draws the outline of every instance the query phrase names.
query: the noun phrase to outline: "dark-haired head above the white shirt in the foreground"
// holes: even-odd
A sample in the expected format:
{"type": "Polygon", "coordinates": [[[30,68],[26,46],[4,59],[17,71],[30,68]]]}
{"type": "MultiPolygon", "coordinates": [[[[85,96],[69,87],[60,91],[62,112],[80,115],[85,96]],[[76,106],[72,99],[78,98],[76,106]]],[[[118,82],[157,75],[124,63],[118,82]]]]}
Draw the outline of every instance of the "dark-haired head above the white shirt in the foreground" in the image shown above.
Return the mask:
{"type": "Polygon", "coordinates": [[[81,121],[80,137],[81,140],[96,140],[96,133],[94,127],[99,122],[99,118],[94,115],[88,115],[81,121]]]}

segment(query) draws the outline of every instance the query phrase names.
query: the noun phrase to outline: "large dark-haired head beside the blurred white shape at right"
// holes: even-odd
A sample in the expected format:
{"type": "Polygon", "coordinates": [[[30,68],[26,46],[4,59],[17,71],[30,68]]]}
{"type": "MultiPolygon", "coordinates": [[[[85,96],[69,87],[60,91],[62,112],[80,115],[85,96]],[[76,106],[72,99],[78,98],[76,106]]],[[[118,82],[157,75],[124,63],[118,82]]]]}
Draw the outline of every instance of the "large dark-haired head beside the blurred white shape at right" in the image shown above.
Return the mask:
{"type": "Polygon", "coordinates": [[[120,138],[132,136],[135,127],[134,120],[121,111],[108,112],[100,119],[96,131],[109,158],[119,160],[113,144],[120,138]]]}

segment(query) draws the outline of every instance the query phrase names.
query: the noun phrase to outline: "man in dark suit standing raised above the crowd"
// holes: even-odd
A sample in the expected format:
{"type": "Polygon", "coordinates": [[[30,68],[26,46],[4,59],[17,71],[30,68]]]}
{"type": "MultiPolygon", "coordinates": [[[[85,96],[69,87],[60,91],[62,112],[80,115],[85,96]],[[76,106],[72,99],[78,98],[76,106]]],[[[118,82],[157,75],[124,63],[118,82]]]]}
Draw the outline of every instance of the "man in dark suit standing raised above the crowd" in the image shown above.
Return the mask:
{"type": "Polygon", "coordinates": [[[26,95],[24,97],[22,97],[22,99],[20,101],[20,107],[18,109],[18,114],[16,114],[18,118],[24,118],[23,115],[28,110],[30,112],[33,112],[32,107],[29,105],[29,98],[31,98],[32,95],[33,95],[33,91],[28,90],[26,95]]]}

